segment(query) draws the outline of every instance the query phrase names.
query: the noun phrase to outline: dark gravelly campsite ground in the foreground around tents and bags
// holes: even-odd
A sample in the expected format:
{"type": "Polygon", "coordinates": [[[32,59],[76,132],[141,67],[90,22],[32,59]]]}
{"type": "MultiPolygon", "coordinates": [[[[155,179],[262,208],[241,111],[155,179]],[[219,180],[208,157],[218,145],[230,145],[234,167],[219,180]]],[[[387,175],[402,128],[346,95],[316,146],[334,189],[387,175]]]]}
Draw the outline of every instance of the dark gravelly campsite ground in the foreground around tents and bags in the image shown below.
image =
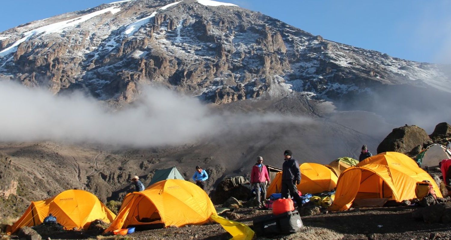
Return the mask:
{"type": "MultiPolygon", "coordinates": [[[[451,203],[440,204],[440,209],[451,210],[451,203]]],[[[291,235],[255,236],[254,239],[283,239],[283,240],[437,240],[450,239],[451,227],[449,222],[429,222],[414,218],[414,212],[426,210],[436,211],[432,207],[378,207],[353,208],[349,211],[331,213],[323,211],[319,215],[302,217],[304,231],[291,235]]],[[[255,208],[239,208],[234,211],[239,219],[252,226],[252,221],[262,215],[271,214],[271,210],[255,208]]],[[[438,213],[437,213],[438,214],[438,213]]],[[[227,216],[227,214],[226,214],[227,216]]],[[[229,215],[230,217],[230,215],[229,215]]],[[[127,235],[134,240],[229,240],[230,235],[219,224],[204,226],[185,226],[180,228],[156,229],[137,231],[127,235]]],[[[80,232],[65,232],[56,235],[45,235],[51,239],[95,239],[96,235],[80,232]]],[[[14,239],[14,237],[13,237],[14,239]]]]}

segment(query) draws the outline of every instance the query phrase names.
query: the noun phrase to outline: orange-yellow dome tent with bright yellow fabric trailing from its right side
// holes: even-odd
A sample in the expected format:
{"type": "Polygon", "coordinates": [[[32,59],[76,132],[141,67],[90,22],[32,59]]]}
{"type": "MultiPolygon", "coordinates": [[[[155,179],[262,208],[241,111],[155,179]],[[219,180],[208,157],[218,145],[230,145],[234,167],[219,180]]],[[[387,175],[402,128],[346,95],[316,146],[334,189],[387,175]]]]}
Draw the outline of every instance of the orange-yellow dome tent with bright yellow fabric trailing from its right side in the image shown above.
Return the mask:
{"type": "Polygon", "coordinates": [[[253,237],[249,226],[217,216],[215,206],[200,187],[189,181],[168,179],[126,195],[116,219],[105,232],[131,226],[150,229],[210,221],[219,222],[234,240],[253,237]]]}

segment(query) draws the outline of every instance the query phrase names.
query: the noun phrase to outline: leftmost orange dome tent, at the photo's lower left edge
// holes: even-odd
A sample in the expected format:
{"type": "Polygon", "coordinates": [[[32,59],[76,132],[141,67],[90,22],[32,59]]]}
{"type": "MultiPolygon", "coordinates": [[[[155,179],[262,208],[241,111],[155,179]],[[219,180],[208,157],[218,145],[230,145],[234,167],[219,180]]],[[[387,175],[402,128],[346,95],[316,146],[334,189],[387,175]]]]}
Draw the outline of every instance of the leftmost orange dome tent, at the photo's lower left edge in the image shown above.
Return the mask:
{"type": "Polygon", "coordinates": [[[49,213],[66,229],[87,229],[96,219],[110,223],[116,217],[92,193],[67,190],[49,199],[31,202],[23,216],[13,226],[8,226],[7,233],[14,233],[23,226],[39,225],[49,213]]]}

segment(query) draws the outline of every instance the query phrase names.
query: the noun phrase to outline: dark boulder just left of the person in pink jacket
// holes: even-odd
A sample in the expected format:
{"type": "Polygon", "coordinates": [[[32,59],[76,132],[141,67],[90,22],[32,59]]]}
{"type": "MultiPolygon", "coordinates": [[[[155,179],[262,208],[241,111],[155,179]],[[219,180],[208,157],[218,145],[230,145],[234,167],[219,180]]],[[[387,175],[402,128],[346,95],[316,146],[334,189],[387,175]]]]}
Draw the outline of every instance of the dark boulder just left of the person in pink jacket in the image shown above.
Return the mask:
{"type": "Polygon", "coordinates": [[[252,188],[244,177],[223,179],[211,194],[213,204],[223,204],[230,197],[247,201],[253,197],[252,188]]]}

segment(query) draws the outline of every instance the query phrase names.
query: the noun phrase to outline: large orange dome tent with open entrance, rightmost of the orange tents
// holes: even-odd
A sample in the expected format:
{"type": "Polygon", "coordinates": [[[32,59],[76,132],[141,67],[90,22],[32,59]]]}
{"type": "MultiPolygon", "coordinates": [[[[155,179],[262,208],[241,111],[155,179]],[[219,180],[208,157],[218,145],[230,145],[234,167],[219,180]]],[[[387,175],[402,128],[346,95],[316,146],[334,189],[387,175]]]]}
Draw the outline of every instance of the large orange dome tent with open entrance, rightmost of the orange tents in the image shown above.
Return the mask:
{"type": "Polygon", "coordinates": [[[416,183],[424,180],[432,183],[437,197],[442,197],[432,177],[412,158],[396,152],[377,154],[341,173],[335,200],[329,209],[346,210],[353,202],[359,206],[374,206],[387,200],[413,199],[416,198],[416,183]]]}

